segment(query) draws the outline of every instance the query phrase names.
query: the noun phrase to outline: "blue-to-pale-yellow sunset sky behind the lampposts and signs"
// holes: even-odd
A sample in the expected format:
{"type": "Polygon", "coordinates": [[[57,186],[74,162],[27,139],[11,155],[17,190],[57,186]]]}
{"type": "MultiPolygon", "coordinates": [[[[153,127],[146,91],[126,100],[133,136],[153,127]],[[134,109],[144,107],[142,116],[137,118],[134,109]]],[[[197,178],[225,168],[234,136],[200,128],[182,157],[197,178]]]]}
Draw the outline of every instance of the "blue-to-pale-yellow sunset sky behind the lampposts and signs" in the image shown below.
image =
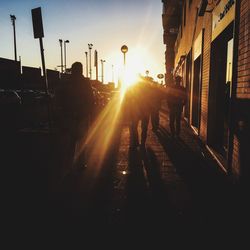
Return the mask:
{"type": "MultiPolygon", "coordinates": [[[[16,16],[17,57],[23,66],[41,67],[39,40],[34,39],[31,9],[41,7],[44,29],[45,64],[60,71],[59,39],[66,44],[67,68],[80,61],[86,76],[88,44],[93,44],[92,78],[95,79],[94,51],[98,52],[104,82],[117,82],[123,66],[121,46],[127,45],[126,66],[157,80],[165,73],[161,0],[0,0],[0,57],[14,59],[13,26],[16,16]]],[[[89,59],[88,59],[89,61],[89,59]]]]}

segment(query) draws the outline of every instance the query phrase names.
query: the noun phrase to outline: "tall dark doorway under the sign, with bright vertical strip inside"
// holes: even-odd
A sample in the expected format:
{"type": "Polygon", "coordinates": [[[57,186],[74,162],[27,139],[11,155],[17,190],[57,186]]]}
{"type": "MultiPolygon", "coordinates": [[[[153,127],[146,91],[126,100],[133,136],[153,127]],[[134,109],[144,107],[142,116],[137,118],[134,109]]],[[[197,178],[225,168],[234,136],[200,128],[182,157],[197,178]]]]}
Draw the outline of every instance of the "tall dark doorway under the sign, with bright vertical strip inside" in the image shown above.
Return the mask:
{"type": "Polygon", "coordinates": [[[212,42],[208,144],[227,159],[233,60],[233,22],[212,42]]]}

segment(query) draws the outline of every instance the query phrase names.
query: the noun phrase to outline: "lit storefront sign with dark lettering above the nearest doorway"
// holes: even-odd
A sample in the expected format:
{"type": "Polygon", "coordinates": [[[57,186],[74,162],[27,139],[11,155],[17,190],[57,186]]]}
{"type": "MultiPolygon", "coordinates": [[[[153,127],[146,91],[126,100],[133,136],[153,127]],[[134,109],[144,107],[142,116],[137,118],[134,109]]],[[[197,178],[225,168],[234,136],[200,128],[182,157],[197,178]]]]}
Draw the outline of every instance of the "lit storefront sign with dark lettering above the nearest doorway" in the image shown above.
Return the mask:
{"type": "Polygon", "coordinates": [[[221,0],[213,10],[212,40],[214,40],[235,18],[236,0],[221,0]]]}

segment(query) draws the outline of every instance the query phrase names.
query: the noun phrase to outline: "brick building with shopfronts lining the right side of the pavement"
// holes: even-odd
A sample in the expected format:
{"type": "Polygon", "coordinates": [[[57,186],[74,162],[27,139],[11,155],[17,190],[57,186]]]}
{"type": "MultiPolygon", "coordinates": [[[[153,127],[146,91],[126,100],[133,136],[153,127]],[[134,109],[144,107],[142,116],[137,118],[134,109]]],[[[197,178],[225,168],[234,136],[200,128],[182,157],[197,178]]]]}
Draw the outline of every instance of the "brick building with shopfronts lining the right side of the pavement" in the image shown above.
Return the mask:
{"type": "Polygon", "coordinates": [[[183,77],[184,116],[221,169],[250,172],[250,1],[162,0],[166,83],[183,77]]]}

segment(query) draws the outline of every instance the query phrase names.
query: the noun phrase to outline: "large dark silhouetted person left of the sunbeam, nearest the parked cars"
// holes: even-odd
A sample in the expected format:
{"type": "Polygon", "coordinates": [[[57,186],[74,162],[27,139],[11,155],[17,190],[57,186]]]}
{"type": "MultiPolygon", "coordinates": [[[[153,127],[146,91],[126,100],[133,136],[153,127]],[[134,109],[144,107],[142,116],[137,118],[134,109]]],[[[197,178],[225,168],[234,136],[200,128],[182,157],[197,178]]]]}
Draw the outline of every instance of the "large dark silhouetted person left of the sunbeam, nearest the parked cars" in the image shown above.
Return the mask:
{"type": "Polygon", "coordinates": [[[94,109],[94,96],[89,79],[82,75],[82,64],[75,62],[71,67],[71,75],[63,88],[64,122],[70,134],[70,158],[73,167],[85,165],[85,139],[91,123],[94,109]]]}

